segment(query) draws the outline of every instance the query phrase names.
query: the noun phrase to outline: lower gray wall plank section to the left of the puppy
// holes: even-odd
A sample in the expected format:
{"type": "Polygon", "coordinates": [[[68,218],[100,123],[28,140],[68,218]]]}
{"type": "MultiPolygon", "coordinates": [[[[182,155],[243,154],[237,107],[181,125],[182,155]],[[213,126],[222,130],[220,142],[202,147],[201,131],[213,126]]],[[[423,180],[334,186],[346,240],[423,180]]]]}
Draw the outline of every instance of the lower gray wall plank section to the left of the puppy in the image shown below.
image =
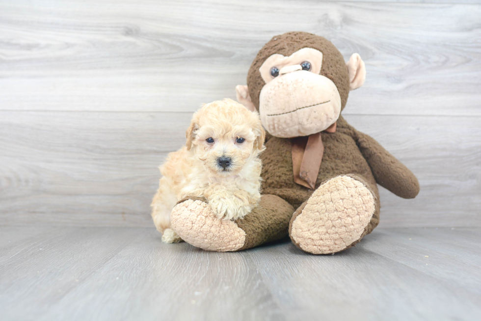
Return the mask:
{"type": "Polygon", "coordinates": [[[189,113],[2,115],[2,223],[134,226],[150,225],[149,205],[160,178],[157,167],[167,152],[185,144],[191,117],[189,113]]]}

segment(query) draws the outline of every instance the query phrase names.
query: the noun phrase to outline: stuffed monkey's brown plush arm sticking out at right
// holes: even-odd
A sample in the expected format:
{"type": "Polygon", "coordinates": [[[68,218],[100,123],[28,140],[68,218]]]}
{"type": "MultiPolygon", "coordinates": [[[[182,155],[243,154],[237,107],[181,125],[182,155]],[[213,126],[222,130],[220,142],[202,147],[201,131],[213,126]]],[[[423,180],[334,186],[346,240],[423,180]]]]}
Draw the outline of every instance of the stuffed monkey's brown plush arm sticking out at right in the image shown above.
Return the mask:
{"type": "Polygon", "coordinates": [[[357,146],[373,171],[376,182],[401,198],[415,198],[419,182],[396,157],[369,135],[356,130],[357,146]]]}

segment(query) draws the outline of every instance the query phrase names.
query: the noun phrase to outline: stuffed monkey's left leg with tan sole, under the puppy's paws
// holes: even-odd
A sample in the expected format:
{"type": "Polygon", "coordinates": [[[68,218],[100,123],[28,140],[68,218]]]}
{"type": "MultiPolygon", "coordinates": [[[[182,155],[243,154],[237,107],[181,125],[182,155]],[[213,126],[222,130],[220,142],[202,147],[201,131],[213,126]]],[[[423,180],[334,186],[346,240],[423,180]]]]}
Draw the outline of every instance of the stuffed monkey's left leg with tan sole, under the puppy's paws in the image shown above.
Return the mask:
{"type": "Polygon", "coordinates": [[[274,195],[263,195],[259,206],[242,220],[219,220],[201,198],[179,202],[172,213],[172,228],[194,247],[210,251],[238,251],[288,236],[294,207],[274,195]]]}

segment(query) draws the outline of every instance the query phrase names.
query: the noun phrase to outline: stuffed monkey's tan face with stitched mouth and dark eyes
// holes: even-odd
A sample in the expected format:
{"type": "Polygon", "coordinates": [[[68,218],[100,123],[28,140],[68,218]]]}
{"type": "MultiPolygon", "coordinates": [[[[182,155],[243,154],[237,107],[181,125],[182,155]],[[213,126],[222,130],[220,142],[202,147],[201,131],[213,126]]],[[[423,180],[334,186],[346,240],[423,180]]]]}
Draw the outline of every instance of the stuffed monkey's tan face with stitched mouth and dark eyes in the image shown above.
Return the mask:
{"type": "Polygon", "coordinates": [[[341,113],[339,91],[320,74],[322,52],[304,48],[286,57],[273,54],[259,69],[266,85],[259,96],[259,113],[273,136],[290,138],[321,132],[341,113]]]}

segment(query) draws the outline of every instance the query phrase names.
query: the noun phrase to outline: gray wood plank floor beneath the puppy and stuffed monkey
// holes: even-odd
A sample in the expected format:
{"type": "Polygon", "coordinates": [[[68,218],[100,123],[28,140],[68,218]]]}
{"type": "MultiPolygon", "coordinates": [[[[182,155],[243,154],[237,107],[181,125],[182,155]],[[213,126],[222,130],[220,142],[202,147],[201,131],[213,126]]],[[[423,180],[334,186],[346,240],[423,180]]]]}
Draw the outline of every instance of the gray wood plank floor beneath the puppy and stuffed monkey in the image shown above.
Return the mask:
{"type": "Polygon", "coordinates": [[[0,226],[2,320],[480,320],[480,228],[378,228],[336,255],[154,228],[0,226]]]}

